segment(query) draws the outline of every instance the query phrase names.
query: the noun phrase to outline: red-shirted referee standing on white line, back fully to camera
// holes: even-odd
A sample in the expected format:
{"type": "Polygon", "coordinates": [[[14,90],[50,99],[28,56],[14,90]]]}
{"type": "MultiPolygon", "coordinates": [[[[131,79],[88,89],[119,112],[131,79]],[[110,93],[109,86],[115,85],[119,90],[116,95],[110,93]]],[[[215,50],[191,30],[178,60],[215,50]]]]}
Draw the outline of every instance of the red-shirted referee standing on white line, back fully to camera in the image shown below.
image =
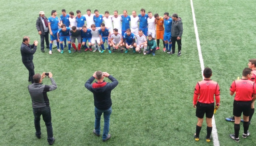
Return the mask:
{"type": "MultiPolygon", "coordinates": [[[[212,133],[212,117],[214,112],[214,95],[216,105],[218,104],[219,107],[220,91],[218,83],[211,80],[212,70],[210,68],[205,68],[203,70],[203,76],[204,80],[197,83],[194,92],[193,105],[194,108],[196,108],[196,116],[198,117],[194,138],[196,141],[199,141],[199,134],[202,128],[203,116],[205,114],[207,123],[206,141],[210,142],[212,133]]],[[[218,109],[218,107],[216,109],[218,109]]]]}

